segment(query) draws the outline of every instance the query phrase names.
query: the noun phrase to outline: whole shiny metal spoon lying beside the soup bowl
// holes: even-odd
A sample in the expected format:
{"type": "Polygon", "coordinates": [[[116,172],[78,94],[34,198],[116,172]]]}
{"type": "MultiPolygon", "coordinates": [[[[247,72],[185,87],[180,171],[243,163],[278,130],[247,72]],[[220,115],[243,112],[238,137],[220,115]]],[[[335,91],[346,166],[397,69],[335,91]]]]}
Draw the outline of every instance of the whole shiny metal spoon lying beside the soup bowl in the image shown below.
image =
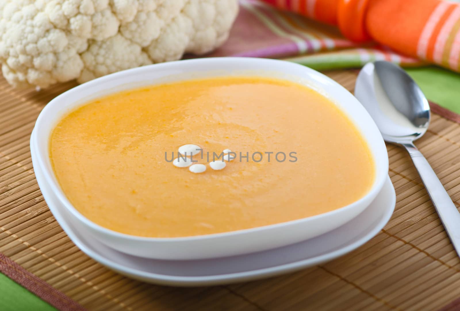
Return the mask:
{"type": "Polygon", "coordinates": [[[430,123],[430,106],[420,87],[399,66],[377,61],[358,75],[355,96],[368,110],[386,142],[406,148],[430,195],[450,241],[460,256],[460,213],[434,173],[414,146],[430,123]]]}

